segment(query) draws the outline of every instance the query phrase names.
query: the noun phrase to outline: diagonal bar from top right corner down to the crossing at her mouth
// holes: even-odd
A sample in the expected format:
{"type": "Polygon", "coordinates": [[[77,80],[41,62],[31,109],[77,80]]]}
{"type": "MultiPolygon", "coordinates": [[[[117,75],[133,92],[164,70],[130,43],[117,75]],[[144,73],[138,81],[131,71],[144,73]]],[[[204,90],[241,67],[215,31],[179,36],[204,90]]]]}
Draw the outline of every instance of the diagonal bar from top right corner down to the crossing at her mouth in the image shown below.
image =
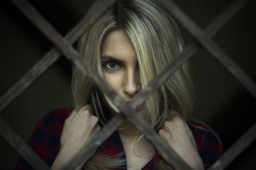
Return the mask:
{"type": "MultiPolygon", "coordinates": [[[[237,0],[234,1],[228,8],[223,11],[208,27],[205,29],[205,34],[209,34],[209,36],[213,36],[217,30],[221,29],[223,25],[230,20],[230,18],[234,17],[236,13],[243,8],[243,6],[248,3],[249,0],[237,0]]],[[[164,3],[164,2],[163,2],[164,3]]],[[[137,108],[144,101],[152,95],[163,83],[169,78],[179,67],[186,62],[192,55],[200,48],[200,45],[193,41],[190,45],[188,45],[185,50],[180,53],[180,56],[174,59],[170,64],[168,64],[158,76],[153,78],[150,83],[143,89],[141,92],[136,94],[133,97],[131,104],[133,108],[137,108]]]]}

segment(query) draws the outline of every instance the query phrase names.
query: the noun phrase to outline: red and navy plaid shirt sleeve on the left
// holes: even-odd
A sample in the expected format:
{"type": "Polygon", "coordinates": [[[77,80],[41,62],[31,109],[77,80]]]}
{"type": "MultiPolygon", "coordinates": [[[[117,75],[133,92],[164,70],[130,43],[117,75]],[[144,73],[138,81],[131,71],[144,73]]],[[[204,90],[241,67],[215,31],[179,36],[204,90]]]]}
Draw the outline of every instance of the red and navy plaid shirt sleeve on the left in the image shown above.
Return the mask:
{"type": "MultiPolygon", "coordinates": [[[[32,150],[49,166],[52,166],[54,159],[60,151],[60,136],[65,119],[70,110],[61,109],[48,113],[36,124],[35,130],[28,140],[32,150]]],[[[33,169],[20,157],[15,169],[33,169]]]]}

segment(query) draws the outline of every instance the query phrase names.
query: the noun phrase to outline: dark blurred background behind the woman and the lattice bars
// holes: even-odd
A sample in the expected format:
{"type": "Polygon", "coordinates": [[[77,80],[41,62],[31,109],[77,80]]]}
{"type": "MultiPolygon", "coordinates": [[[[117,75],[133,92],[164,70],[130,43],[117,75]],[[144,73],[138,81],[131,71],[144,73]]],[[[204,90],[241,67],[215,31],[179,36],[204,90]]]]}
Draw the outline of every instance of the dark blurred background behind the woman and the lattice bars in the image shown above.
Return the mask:
{"type": "MultiPolygon", "coordinates": [[[[30,1],[62,34],[84,16],[91,1],[30,1]]],[[[176,0],[182,10],[205,29],[232,1],[176,0]]],[[[10,2],[0,3],[0,96],[52,48],[52,43],[10,2]]],[[[213,40],[253,80],[255,67],[255,1],[251,1],[215,35],[213,40]]],[[[180,27],[188,45],[193,37],[180,27]]],[[[255,99],[204,48],[191,59],[195,73],[194,116],[211,125],[226,150],[255,123],[255,99]]],[[[72,106],[71,64],[61,57],[2,113],[1,117],[25,141],[49,111],[72,106]]],[[[0,137],[1,169],[13,169],[19,153],[0,137]]],[[[228,169],[256,169],[256,143],[228,169]]]]}

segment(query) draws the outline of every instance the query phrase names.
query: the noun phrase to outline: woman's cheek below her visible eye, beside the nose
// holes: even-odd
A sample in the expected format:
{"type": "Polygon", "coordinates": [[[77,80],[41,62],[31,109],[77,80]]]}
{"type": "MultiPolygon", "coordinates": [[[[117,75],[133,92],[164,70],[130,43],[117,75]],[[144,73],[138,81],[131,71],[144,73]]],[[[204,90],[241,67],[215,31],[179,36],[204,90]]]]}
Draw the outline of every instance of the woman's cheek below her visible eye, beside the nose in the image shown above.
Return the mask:
{"type": "Polygon", "coordinates": [[[103,72],[104,79],[115,89],[117,92],[120,92],[122,90],[122,82],[123,82],[123,76],[122,74],[115,74],[115,73],[104,73],[103,72]]]}

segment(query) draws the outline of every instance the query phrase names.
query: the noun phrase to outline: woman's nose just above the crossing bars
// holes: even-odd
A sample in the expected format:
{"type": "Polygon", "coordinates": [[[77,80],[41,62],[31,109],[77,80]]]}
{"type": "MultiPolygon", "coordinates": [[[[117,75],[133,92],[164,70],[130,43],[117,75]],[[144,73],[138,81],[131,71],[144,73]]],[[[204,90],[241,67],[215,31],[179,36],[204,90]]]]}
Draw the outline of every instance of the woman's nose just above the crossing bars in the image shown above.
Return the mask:
{"type": "Polygon", "coordinates": [[[137,92],[140,91],[141,83],[140,83],[140,73],[138,71],[127,71],[126,78],[124,81],[123,89],[124,93],[132,97],[137,92]]]}

